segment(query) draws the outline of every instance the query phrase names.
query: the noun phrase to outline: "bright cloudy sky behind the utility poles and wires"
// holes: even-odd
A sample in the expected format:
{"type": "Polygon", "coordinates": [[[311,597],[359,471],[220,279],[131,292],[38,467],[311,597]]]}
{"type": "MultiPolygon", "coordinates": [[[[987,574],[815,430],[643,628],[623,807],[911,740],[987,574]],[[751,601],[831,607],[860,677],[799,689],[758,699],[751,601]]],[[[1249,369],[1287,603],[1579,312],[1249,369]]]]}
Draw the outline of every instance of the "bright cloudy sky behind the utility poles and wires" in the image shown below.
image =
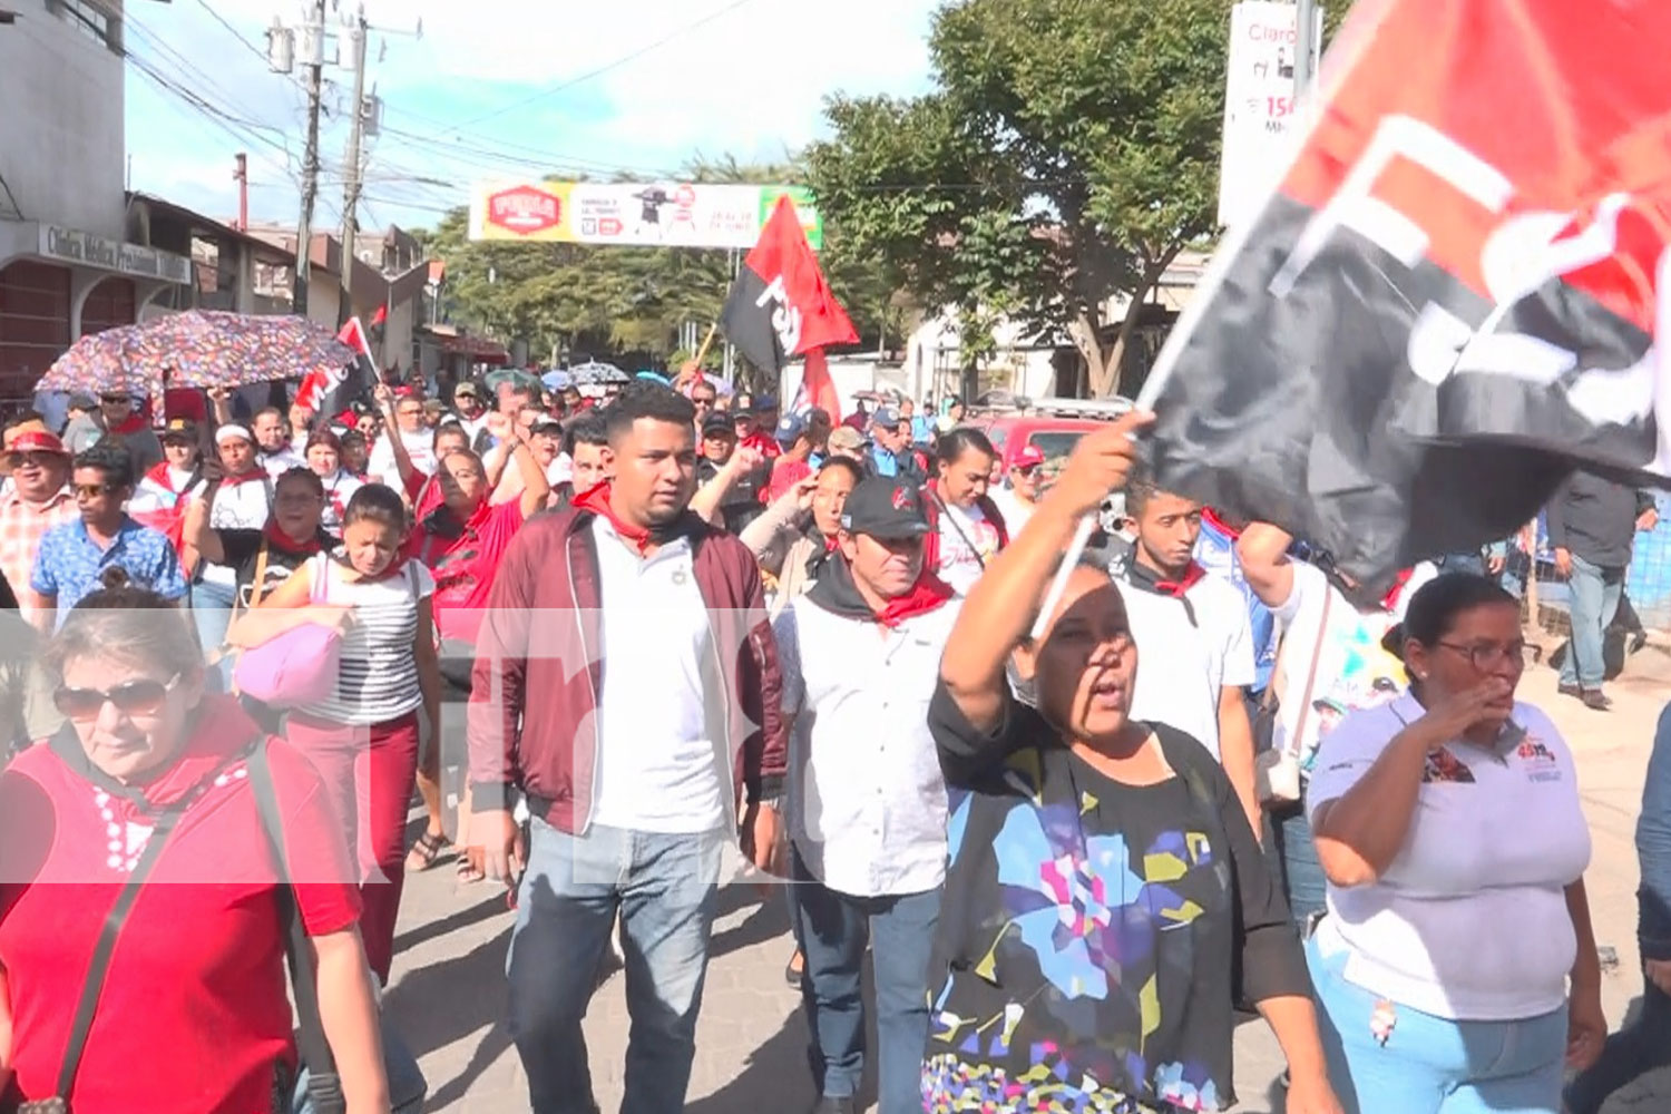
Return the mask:
{"type": "MultiPolygon", "coordinates": [[[[274,12],[271,0],[207,2],[264,50],[262,30],[274,12]]],[[[374,32],[369,70],[384,95],[391,125],[503,149],[513,159],[531,159],[526,149],[563,152],[600,167],[673,167],[697,150],[767,159],[819,134],[820,105],[830,92],[911,94],[922,89],[934,7],[936,0],[844,0],[839,5],[742,0],[732,10],[724,10],[727,0],[368,0],[374,27],[416,30],[423,20],[421,40],[374,32]],[[700,27],[682,30],[709,15],[714,18],[700,27]],[[668,35],[665,45],[585,77],[668,35]],[[563,82],[575,84],[535,97],[563,82]],[[486,114],[496,115],[471,124],[473,117],[486,114]],[[451,130],[456,125],[465,127],[451,130]]],[[[349,5],[341,8],[348,12],[349,5]]],[[[282,129],[291,150],[301,150],[294,82],[269,75],[262,60],[222,28],[201,0],[175,0],[155,8],[130,5],[130,13],[142,25],[132,37],[139,52],[157,57],[162,68],[180,73],[194,87],[202,85],[196,78],[212,80],[224,94],[226,110],[282,129]],[[152,38],[162,38],[197,73],[167,58],[149,42],[152,38]]],[[[286,18],[299,20],[299,8],[286,12],[286,18]]],[[[346,87],[346,72],[331,77],[346,87]]],[[[164,105],[167,95],[147,102],[134,77],[129,89],[135,180],[145,189],[157,180],[221,189],[221,172],[214,167],[229,162],[237,140],[201,117],[194,122],[190,109],[164,105]]],[[[338,94],[336,100],[341,99],[338,94]]],[[[328,97],[328,104],[331,100],[328,97]]],[[[323,140],[328,160],[341,157],[341,144],[343,129],[328,122],[323,140]]],[[[259,144],[251,150],[286,160],[259,144]]],[[[515,167],[495,165],[475,154],[448,159],[433,144],[413,145],[393,135],[384,135],[376,157],[389,167],[423,169],[449,182],[516,174],[515,167]]],[[[272,167],[266,167],[266,177],[277,182],[272,167]]],[[[286,199],[276,197],[281,190],[266,192],[274,195],[271,202],[261,197],[252,204],[271,204],[282,212],[286,199]]],[[[326,192],[339,192],[339,187],[329,185],[326,192]]],[[[388,182],[374,184],[373,192],[424,199],[431,205],[463,200],[461,190],[449,195],[441,187],[388,182]]],[[[406,214],[406,219],[421,217],[406,214]]]]}

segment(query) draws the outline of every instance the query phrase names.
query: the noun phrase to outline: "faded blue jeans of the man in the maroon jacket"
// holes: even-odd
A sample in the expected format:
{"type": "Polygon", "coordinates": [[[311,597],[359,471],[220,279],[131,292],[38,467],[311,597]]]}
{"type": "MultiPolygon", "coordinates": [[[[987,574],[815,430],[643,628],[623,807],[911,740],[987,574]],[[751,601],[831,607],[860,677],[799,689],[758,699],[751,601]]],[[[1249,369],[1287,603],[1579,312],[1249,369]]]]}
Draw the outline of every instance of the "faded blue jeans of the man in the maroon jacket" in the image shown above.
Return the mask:
{"type": "Polygon", "coordinates": [[[530,823],[506,962],[510,1030],[535,1114],[595,1114],[580,1019],[620,914],[627,945],[632,1114],[678,1114],[697,1051],[724,835],[530,823]]]}

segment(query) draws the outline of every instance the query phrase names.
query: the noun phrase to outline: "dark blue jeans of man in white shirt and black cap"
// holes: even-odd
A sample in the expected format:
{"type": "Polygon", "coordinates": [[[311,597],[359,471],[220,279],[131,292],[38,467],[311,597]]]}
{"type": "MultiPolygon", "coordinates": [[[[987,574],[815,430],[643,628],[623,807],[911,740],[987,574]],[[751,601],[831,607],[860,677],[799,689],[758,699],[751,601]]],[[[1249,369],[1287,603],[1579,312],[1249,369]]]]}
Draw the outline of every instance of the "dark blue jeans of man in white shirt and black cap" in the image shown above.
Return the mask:
{"type": "Polygon", "coordinates": [[[864,1076],[864,944],[874,937],[877,1114],[921,1114],[922,1052],[929,1042],[929,947],[939,889],[899,897],[852,897],[825,889],[795,855],[795,919],[807,954],[800,997],[807,1010],[812,1082],[852,1097],[864,1076]]]}

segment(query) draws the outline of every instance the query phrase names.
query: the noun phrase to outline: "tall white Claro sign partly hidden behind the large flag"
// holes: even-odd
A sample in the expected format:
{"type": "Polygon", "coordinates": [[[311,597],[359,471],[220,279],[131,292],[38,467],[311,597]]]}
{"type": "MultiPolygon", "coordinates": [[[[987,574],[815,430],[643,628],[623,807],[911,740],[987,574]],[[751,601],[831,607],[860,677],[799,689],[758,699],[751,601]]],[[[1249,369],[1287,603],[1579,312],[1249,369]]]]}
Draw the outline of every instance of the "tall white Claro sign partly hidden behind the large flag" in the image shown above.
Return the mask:
{"type": "MultiPolygon", "coordinates": [[[[1230,8],[1225,63],[1225,142],[1218,164],[1218,224],[1240,224],[1282,179],[1300,140],[1293,97],[1298,58],[1298,5],[1243,0],[1230,8]]],[[[1323,42],[1323,10],[1315,10],[1312,73],[1323,42]]]]}

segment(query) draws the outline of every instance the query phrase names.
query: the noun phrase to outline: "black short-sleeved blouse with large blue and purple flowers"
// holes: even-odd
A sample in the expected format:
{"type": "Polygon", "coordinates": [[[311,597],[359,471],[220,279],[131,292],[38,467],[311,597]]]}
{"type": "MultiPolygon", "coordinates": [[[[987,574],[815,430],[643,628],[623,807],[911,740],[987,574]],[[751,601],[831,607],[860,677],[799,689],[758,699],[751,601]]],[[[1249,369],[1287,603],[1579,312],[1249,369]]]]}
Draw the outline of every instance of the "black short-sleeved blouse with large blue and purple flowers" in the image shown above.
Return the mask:
{"type": "Polygon", "coordinates": [[[1176,777],[1121,785],[1011,701],[976,730],[939,686],[951,867],[929,967],[929,1114],[1222,1111],[1233,970],[1308,995],[1280,885],[1223,768],[1156,725],[1176,777]]]}

